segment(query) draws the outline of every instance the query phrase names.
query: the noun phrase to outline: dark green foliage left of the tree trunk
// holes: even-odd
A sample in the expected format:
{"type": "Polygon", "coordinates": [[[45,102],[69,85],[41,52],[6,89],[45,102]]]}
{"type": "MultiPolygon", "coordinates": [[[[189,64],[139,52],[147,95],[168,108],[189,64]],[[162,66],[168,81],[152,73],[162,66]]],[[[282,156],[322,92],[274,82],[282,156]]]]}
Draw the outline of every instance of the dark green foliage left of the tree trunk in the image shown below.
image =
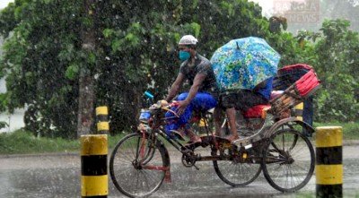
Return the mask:
{"type": "Polygon", "coordinates": [[[58,136],[74,132],[77,82],[64,73],[81,56],[75,50],[77,13],[73,2],[27,0],[15,1],[1,13],[1,32],[12,35],[5,39],[1,63],[7,75],[6,106],[10,112],[28,106],[24,120],[32,132],[50,136],[56,131],[62,132],[58,136]]]}

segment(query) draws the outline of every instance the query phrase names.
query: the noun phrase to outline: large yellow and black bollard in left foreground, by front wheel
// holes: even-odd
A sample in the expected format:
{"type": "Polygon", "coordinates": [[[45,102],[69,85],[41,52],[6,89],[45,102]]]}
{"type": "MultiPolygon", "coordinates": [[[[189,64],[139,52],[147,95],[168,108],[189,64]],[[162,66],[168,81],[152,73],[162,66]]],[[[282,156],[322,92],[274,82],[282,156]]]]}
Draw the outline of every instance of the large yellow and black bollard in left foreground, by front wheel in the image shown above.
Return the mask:
{"type": "Polygon", "coordinates": [[[82,197],[107,197],[109,192],[107,154],[107,134],[81,136],[82,197]]]}

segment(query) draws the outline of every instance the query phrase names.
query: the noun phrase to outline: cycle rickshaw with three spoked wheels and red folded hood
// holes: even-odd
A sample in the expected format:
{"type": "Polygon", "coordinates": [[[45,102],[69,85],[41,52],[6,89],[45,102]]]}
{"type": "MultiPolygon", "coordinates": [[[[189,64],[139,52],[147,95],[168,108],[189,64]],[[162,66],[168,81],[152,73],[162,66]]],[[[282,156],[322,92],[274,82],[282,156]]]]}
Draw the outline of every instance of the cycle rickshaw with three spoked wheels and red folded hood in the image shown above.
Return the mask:
{"type": "MultiPolygon", "coordinates": [[[[315,156],[310,140],[302,129],[313,133],[310,125],[290,115],[293,107],[311,96],[320,80],[309,65],[288,65],[278,70],[274,90],[279,92],[268,105],[250,108],[242,115],[246,129],[240,129],[236,142],[215,136],[206,112],[203,118],[206,135],[202,142],[184,145],[180,135],[163,132],[164,114],[170,107],[154,104],[142,113],[135,133],[122,138],[111,153],[109,172],[113,184],[129,197],[153,194],[163,181],[171,180],[171,161],[167,147],[171,144],[182,154],[185,167],[196,167],[199,161],[213,161],[215,173],[232,186],[249,185],[261,171],[269,185],[281,192],[295,192],[306,185],[314,171],[315,156]],[[243,133],[245,131],[245,133],[243,133]],[[166,143],[165,143],[166,142],[166,143]],[[198,147],[209,148],[206,156],[198,147]]],[[[225,121],[223,127],[226,127],[225,121]]]]}

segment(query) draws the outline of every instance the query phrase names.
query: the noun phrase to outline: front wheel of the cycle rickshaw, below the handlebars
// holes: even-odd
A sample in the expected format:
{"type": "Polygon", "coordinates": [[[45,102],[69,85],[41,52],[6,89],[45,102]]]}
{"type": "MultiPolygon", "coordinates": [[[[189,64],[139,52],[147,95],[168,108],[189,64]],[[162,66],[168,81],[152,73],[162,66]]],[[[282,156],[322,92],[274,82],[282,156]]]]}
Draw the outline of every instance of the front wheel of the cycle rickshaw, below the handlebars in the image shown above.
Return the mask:
{"type": "Polygon", "coordinates": [[[150,148],[142,134],[127,135],[111,153],[109,169],[114,185],[128,196],[152,194],[162,185],[164,172],[169,167],[164,156],[164,151],[157,146],[150,148]]]}

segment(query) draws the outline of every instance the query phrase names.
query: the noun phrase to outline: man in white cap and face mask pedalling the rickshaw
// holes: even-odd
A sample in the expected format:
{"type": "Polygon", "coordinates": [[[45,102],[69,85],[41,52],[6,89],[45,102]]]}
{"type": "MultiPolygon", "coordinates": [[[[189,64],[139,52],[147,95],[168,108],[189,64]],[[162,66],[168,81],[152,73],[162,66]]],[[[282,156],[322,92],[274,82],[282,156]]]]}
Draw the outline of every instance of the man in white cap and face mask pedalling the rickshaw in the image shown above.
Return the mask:
{"type": "Polygon", "coordinates": [[[169,102],[174,99],[186,80],[191,87],[188,92],[180,93],[176,99],[179,103],[178,107],[171,108],[180,117],[175,117],[170,111],[166,113],[168,123],[165,125],[165,132],[171,136],[174,133],[185,133],[190,138],[190,142],[201,142],[197,134],[191,130],[189,121],[193,111],[206,111],[217,105],[218,89],[215,73],[209,60],[197,53],[197,39],[192,35],[180,39],[179,50],[180,60],[183,63],[165,100],[169,102]]]}

